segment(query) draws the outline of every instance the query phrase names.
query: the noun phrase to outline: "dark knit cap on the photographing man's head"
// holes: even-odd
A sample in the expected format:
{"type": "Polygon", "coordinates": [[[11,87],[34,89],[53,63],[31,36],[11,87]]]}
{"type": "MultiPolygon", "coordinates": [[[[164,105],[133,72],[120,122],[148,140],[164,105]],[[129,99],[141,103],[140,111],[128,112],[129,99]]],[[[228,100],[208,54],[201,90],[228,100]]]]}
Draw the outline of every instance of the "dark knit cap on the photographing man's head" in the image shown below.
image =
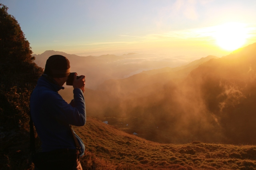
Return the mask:
{"type": "Polygon", "coordinates": [[[50,56],[45,64],[44,74],[53,78],[67,77],[70,74],[70,63],[62,55],[50,56]]]}

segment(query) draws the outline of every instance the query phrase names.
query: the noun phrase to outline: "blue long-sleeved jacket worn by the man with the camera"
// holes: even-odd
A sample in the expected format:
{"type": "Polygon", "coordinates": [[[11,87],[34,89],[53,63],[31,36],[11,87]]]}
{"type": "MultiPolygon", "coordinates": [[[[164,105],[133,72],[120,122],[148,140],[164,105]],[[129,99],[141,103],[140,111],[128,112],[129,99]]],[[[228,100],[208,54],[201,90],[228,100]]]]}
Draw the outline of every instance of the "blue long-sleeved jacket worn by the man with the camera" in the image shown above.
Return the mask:
{"type": "MultiPolygon", "coordinates": [[[[74,89],[74,107],[58,94],[60,87],[41,76],[30,98],[30,113],[36,131],[42,141],[42,151],[76,149],[69,125],[83,126],[86,123],[84,95],[74,89]]],[[[75,134],[76,135],[76,134],[75,134]]],[[[84,154],[84,143],[76,135],[84,154]]]]}

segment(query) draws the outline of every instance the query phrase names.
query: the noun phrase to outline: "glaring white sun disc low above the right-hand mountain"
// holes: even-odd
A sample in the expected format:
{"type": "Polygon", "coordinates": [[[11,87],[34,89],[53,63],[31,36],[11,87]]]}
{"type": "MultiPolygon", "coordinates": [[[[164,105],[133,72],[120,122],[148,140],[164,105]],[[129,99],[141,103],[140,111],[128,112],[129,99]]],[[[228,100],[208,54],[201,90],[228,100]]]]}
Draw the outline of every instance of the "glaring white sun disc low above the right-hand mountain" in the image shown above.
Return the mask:
{"type": "Polygon", "coordinates": [[[226,23],[216,27],[216,43],[226,51],[236,50],[246,42],[247,30],[243,23],[226,23]]]}

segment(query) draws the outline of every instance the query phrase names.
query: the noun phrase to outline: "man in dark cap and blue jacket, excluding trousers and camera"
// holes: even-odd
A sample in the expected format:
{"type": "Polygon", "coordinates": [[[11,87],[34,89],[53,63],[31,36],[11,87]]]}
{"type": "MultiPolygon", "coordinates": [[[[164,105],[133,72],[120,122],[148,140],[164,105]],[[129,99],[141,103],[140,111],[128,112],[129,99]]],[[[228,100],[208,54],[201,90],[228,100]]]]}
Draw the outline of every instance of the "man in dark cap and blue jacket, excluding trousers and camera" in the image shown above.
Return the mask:
{"type": "MultiPolygon", "coordinates": [[[[83,126],[86,123],[84,103],[85,76],[73,81],[74,99],[68,104],[58,94],[70,74],[70,62],[62,55],[53,55],[46,61],[44,74],[30,98],[31,117],[42,141],[42,151],[76,149],[70,125],[83,126]]],[[[84,143],[75,134],[84,154],[84,143]]]]}

